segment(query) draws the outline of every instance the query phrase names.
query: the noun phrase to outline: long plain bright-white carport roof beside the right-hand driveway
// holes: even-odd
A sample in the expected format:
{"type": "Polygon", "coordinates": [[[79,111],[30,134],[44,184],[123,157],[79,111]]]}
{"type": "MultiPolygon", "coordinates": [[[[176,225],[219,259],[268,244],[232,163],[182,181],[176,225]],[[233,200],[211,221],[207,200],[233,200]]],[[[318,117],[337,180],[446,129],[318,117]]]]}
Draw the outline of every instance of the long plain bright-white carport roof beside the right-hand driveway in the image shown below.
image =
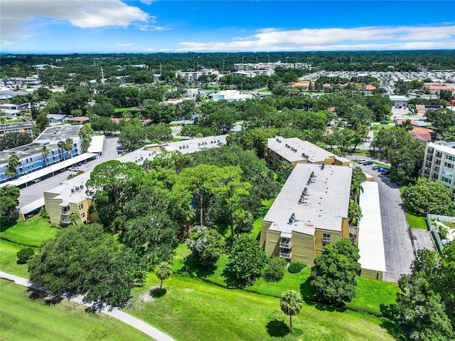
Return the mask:
{"type": "Polygon", "coordinates": [[[363,269],[386,272],[384,240],[378,182],[363,182],[360,194],[362,219],[358,227],[360,266],[363,269]]]}

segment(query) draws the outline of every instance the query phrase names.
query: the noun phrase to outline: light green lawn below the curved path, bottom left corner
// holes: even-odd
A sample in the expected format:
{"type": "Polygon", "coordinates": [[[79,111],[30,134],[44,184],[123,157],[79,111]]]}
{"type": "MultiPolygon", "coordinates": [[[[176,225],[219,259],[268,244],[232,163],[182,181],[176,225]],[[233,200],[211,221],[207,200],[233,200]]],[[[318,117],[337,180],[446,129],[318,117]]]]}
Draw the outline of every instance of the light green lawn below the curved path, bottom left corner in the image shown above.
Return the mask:
{"type": "Polygon", "coordinates": [[[85,313],[85,306],[63,300],[52,305],[29,298],[26,288],[0,280],[1,340],[142,341],[139,330],[107,315],[85,313]]]}

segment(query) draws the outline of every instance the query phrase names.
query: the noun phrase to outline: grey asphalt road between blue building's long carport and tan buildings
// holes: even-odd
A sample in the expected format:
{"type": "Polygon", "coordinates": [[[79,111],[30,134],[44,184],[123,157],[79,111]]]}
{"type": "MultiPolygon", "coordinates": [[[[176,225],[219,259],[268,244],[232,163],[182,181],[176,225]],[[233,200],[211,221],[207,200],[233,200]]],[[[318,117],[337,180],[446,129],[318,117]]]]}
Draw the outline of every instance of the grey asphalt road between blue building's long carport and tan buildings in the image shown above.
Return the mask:
{"type": "MultiPolygon", "coordinates": [[[[118,138],[108,138],[105,140],[105,146],[102,151],[101,157],[93,161],[82,164],[79,169],[83,172],[90,172],[97,164],[106,162],[112,159],[117,159],[120,155],[117,154],[117,142],[118,138]]],[[[36,184],[30,184],[28,187],[21,189],[21,195],[19,196],[19,207],[31,204],[33,201],[43,197],[43,192],[48,191],[54,187],[57,187],[61,182],[68,179],[68,175],[75,174],[75,172],[65,171],[60,174],[56,174],[54,177],[43,179],[41,182],[36,184]]]]}

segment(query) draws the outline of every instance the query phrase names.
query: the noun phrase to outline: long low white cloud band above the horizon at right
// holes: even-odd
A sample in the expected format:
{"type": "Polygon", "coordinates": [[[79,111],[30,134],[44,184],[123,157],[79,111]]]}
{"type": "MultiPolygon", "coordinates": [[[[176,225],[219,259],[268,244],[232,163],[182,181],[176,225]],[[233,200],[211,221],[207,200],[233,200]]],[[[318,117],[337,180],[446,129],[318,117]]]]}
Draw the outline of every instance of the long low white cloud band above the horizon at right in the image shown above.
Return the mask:
{"type": "Polygon", "coordinates": [[[455,48],[455,26],[370,26],[258,30],[254,36],[229,42],[179,43],[176,51],[343,51],[455,48]]]}

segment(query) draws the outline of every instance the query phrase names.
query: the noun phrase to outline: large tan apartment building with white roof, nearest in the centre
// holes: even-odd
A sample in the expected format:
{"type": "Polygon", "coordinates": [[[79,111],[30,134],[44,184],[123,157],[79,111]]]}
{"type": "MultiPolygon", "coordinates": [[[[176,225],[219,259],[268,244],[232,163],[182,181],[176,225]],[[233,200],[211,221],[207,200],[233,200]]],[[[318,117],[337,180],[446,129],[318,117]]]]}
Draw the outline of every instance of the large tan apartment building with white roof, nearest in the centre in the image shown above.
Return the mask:
{"type": "Polygon", "coordinates": [[[352,167],[298,163],[262,221],[268,256],[314,265],[328,243],[349,237],[352,167]]]}

